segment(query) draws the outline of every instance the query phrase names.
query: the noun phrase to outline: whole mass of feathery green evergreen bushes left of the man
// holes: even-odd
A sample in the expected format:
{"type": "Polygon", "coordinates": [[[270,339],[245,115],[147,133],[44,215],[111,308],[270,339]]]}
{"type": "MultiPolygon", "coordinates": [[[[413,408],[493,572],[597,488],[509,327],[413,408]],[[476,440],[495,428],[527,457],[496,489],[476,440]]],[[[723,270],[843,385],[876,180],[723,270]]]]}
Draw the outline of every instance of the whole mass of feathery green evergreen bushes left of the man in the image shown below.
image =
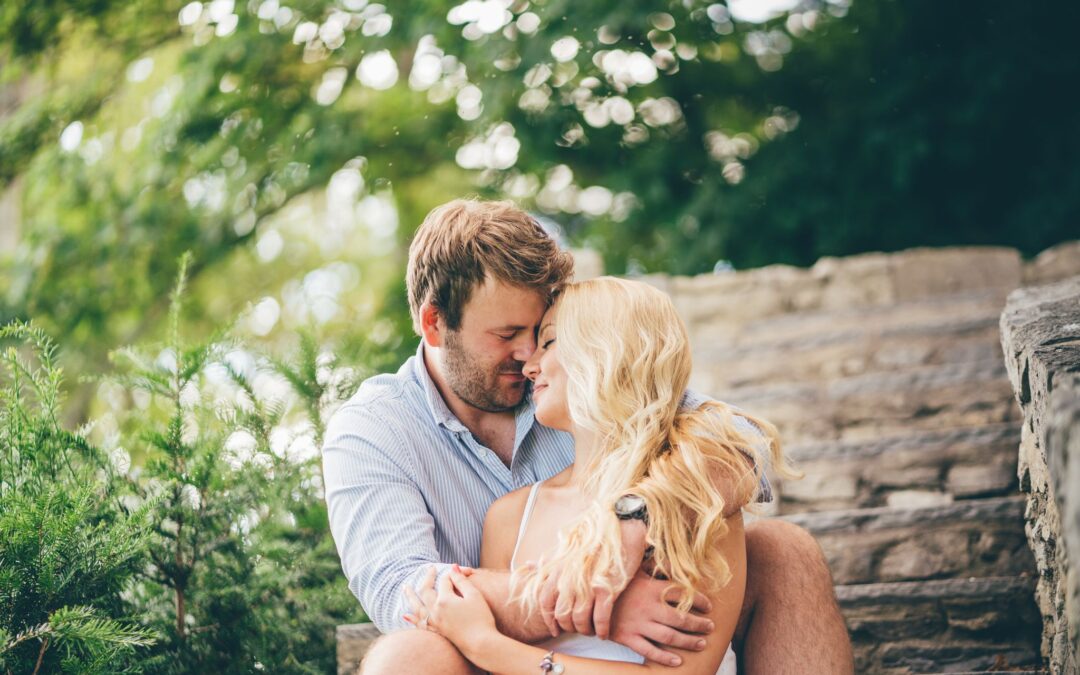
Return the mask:
{"type": "Polygon", "coordinates": [[[289,359],[225,333],[185,342],[186,269],[166,342],[114,354],[111,380],[141,405],[111,450],[60,428],[53,343],[26,324],[0,334],[39,363],[5,354],[0,665],[12,673],[329,673],[334,626],[363,619],[318,453],[354,372],[307,335],[289,359]],[[140,445],[132,468],[122,448],[140,445]]]}

